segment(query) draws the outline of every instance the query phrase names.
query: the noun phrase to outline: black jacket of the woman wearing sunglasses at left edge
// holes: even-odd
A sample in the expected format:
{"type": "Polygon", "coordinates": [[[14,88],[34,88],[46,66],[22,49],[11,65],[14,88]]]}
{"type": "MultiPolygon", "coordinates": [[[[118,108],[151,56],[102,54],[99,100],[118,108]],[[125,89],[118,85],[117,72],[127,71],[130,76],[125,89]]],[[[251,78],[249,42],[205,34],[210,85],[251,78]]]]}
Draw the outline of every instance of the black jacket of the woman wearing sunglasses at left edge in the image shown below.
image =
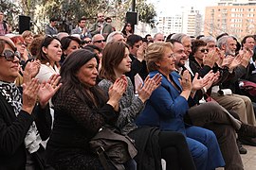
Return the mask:
{"type": "MultiPolygon", "coordinates": [[[[46,140],[50,134],[51,116],[49,109],[36,107],[32,114],[21,110],[16,116],[14,110],[0,93],[0,169],[25,169],[27,162],[24,140],[27,130],[35,120],[42,140],[46,140]]],[[[32,156],[36,159],[36,165],[42,167],[39,152],[44,152],[43,147],[32,156]],[[40,160],[40,161],[39,161],[40,160]]],[[[42,169],[42,168],[39,168],[42,169]]]]}

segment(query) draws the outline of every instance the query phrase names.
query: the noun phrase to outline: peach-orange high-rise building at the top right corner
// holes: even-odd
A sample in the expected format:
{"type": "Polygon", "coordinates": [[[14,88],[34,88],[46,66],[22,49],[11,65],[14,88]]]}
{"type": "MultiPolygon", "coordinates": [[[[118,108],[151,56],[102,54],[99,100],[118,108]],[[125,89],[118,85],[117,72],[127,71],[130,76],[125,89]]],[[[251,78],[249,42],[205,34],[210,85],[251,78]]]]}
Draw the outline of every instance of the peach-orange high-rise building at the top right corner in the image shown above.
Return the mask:
{"type": "Polygon", "coordinates": [[[217,36],[223,32],[243,39],[256,34],[255,0],[220,0],[218,6],[207,7],[204,34],[217,36]]]}

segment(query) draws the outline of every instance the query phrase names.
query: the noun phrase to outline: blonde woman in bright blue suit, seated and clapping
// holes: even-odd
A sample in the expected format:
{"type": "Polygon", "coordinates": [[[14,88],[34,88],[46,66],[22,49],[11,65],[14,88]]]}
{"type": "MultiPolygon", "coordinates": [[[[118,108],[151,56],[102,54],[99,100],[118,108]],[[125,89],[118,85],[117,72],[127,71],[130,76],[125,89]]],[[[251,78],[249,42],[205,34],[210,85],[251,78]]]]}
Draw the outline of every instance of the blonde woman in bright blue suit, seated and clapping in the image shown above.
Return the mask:
{"type": "Polygon", "coordinates": [[[183,118],[190,109],[194,91],[200,89],[200,80],[194,79],[193,87],[188,71],[182,78],[175,72],[172,44],[155,42],[146,51],[150,76],[162,75],[161,85],[147,101],[145,109],[137,117],[138,126],[158,126],[161,130],[179,131],[186,136],[198,170],[211,170],[224,166],[219,145],[212,131],[185,125],[183,118]]]}

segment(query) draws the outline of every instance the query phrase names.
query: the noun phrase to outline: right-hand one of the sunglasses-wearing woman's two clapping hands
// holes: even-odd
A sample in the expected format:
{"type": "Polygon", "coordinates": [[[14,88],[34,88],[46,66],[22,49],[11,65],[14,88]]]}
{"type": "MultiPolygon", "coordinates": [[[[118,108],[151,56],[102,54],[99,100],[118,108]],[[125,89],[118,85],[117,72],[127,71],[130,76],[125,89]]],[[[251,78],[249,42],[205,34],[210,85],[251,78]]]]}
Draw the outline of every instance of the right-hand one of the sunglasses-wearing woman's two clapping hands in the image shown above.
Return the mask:
{"type": "Polygon", "coordinates": [[[49,99],[61,88],[62,83],[59,83],[61,79],[60,75],[52,75],[40,85],[40,89],[37,93],[40,106],[45,108],[49,99]]]}

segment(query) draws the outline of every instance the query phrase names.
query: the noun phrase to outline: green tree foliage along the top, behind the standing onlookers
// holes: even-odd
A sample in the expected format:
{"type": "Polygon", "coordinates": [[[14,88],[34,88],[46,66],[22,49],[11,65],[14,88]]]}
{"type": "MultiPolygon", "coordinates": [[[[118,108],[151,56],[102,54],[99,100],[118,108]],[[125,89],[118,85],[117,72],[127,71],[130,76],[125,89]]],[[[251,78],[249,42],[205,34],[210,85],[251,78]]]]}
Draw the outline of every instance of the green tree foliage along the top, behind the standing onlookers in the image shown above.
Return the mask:
{"type": "MultiPolygon", "coordinates": [[[[94,23],[99,11],[120,23],[124,23],[125,14],[131,11],[132,0],[19,0],[18,6],[9,0],[0,0],[0,7],[6,11],[7,20],[14,22],[14,16],[24,14],[31,17],[39,32],[44,32],[48,19],[54,17],[62,23],[75,26],[84,16],[94,23]]],[[[137,0],[138,20],[154,26],[155,7],[146,0],[137,0]]],[[[16,20],[17,22],[17,20],[16,20]]]]}

